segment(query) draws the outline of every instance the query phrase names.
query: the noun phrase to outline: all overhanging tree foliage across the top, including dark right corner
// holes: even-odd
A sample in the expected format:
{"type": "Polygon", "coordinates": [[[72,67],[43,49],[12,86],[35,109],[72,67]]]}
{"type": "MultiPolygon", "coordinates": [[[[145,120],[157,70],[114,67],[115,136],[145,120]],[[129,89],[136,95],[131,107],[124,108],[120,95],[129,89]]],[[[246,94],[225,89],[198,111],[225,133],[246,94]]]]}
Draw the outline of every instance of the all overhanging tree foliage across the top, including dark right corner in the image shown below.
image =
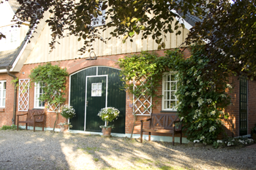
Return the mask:
{"type": "MultiPolygon", "coordinates": [[[[2,3],[4,0],[0,0],[2,3]]],[[[6,0],[7,1],[7,0],[6,0]]],[[[172,33],[184,24],[175,22],[187,13],[203,18],[202,23],[196,23],[189,33],[186,45],[206,42],[206,57],[211,58],[213,69],[226,64],[236,74],[256,75],[255,35],[256,16],[255,0],[18,0],[20,8],[15,13],[15,22],[20,26],[22,21],[29,20],[31,28],[36,26],[45,15],[52,13],[46,20],[52,31],[50,47],[53,50],[57,39],[69,35],[78,36],[84,46],[80,52],[92,50],[91,42],[102,39],[99,27],[92,22],[99,22],[98,16],[108,8],[106,23],[103,30],[109,27],[115,29],[112,36],[122,37],[125,42],[129,37],[142,33],[142,39],[149,35],[165,47],[161,38],[167,32],[172,33]],[[178,12],[178,13],[177,13],[178,12]],[[178,15],[182,14],[182,15],[178,15]],[[65,31],[65,33],[64,33],[65,31]],[[66,34],[67,32],[67,34],[66,34]]],[[[104,23],[104,20],[100,20],[104,23]]],[[[102,28],[102,27],[101,27],[102,28]]],[[[31,34],[31,33],[30,33],[31,34]]],[[[177,34],[181,34],[180,31],[177,34]]],[[[0,39],[4,37],[0,33],[0,39]]],[[[132,41],[132,39],[129,39],[132,41]]]]}

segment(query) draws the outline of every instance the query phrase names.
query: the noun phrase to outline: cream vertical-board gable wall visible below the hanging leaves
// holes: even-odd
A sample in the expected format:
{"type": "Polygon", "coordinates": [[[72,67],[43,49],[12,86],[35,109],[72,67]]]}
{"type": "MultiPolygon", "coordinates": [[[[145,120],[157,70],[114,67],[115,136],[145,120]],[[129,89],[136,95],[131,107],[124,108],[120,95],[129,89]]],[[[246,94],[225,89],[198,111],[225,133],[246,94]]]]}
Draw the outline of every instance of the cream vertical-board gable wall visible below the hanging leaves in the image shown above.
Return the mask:
{"type": "MultiPolygon", "coordinates": [[[[102,37],[104,39],[108,39],[110,37],[110,31],[112,30],[113,28],[108,28],[102,34],[102,37]]],[[[166,34],[166,39],[163,37],[166,44],[165,49],[180,47],[181,43],[184,42],[184,39],[186,39],[189,31],[187,28],[179,28],[179,30],[175,31],[173,34],[166,34]],[[176,36],[176,32],[179,30],[181,31],[181,35],[176,36]]],[[[67,36],[64,39],[59,39],[60,45],[56,43],[56,49],[50,53],[50,34],[50,27],[45,24],[25,64],[44,63],[49,61],[64,61],[72,60],[75,58],[89,57],[89,53],[87,52],[83,55],[80,55],[78,50],[80,47],[83,47],[83,40],[78,42],[78,37],[75,36],[67,36]]],[[[120,39],[111,38],[110,40],[107,40],[106,43],[97,39],[96,42],[92,43],[92,47],[94,48],[94,53],[97,56],[138,53],[142,50],[157,50],[158,45],[153,41],[153,39],[151,39],[150,36],[148,36],[148,39],[141,40],[141,35],[142,34],[135,34],[135,36],[132,38],[133,42],[130,42],[128,38],[127,42],[124,44],[122,43],[122,37],[120,39]]],[[[94,54],[92,54],[92,56],[94,56],[94,54]]]]}

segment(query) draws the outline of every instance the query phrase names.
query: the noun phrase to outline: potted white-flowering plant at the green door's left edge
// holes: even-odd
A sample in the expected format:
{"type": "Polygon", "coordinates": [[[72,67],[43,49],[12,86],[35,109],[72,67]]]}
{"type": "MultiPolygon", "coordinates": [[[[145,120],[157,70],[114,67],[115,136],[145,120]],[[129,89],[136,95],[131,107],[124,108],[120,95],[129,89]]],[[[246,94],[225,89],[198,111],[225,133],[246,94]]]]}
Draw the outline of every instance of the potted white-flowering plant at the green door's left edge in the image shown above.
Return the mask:
{"type": "Polygon", "coordinates": [[[64,105],[61,107],[61,116],[66,118],[64,123],[59,123],[61,131],[67,131],[68,128],[72,128],[71,123],[67,123],[67,120],[75,117],[75,109],[72,106],[64,105]]]}

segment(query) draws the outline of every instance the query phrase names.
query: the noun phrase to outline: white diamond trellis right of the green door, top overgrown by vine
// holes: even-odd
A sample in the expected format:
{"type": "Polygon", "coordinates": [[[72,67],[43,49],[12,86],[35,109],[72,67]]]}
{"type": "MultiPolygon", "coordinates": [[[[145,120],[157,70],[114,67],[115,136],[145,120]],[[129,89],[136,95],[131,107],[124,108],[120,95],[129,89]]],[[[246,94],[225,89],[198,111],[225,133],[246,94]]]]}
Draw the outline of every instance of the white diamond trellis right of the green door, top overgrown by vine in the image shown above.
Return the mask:
{"type": "MultiPolygon", "coordinates": [[[[133,90],[138,88],[139,85],[144,85],[148,77],[144,76],[138,81],[133,81],[133,90]]],[[[133,95],[133,113],[135,115],[151,115],[152,97],[144,95],[148,88],[143,90],[143,93],[138,96],[138,98],[133,95]]]]}

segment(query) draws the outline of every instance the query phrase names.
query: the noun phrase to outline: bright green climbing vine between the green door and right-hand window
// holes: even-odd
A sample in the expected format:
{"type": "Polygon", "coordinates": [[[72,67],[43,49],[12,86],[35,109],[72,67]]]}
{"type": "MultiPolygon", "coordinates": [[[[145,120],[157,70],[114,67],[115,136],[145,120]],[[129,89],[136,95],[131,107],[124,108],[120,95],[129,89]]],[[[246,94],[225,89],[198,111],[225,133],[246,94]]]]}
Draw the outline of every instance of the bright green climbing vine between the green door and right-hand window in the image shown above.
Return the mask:
{"type": "MultiPolygon", "coordinates": [[[[177,51],[171,51],[173,55],[180,55],[177,51]]],[[[157,94],[157,88],[161,85],[162,73],[168,70],[169,58],[159,57],[156,53],[142,52],[139,55],[126,56],[119,59],[118,66],[121,67],[121,80],[124,88],[136,97],[144,96],[161,97],[157,94]],[[147,79],[143,85],[133,88],[133,82],[147,79]]]]}

